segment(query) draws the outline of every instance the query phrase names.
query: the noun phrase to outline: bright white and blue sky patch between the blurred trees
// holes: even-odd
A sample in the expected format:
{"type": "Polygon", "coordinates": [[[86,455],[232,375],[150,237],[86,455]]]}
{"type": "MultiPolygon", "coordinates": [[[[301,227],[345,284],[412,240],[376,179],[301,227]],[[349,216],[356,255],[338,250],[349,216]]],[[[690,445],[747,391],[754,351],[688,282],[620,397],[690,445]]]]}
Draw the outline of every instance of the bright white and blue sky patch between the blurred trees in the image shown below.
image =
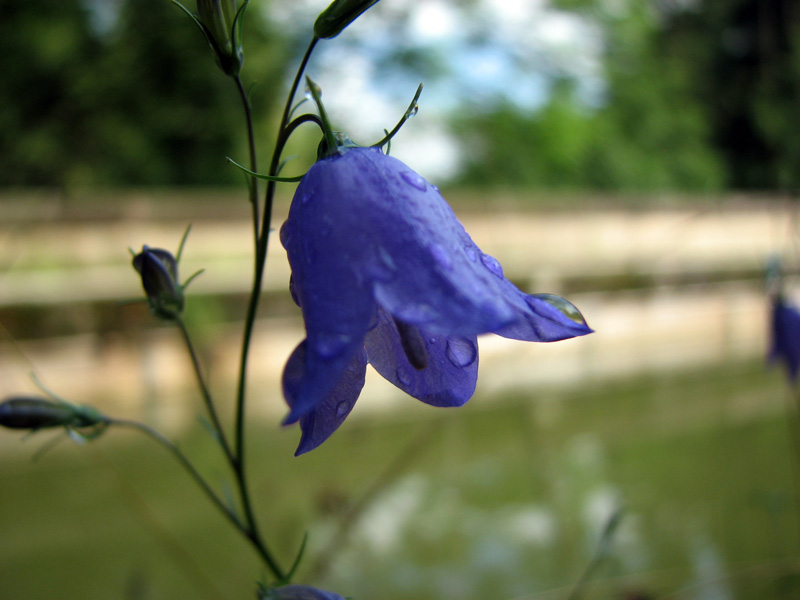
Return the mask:
{"type": "MultiPolygon", "coordinates": [[[[302,39],[327,4],[273,0],[268,17],[302,39]]],[[[498,101],[535,111],[554,77],[573,80],[578,98],[597,105],[602,50],[596,23],[548,0],[382,0],[322,42],[308,74],[334,125],[361,144],[391,129],[423,83],[419,113],[395,138],[392,154],[446,183],[458,174],[462,153],[443,115],[498,101]]]]}

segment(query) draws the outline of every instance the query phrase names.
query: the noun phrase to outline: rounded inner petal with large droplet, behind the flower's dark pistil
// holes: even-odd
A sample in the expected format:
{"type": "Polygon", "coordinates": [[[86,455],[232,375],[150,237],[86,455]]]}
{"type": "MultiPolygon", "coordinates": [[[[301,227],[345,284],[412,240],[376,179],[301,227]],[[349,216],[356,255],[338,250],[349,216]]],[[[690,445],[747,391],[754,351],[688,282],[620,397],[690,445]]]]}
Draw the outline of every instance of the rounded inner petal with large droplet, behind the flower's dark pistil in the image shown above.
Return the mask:
{"type": "Polygon", "coordinates": [[[365,339],[370,364],[384,379],[417,400],[432,406],[461,406],[470,399],[478,381],[477,337],[431,336],[423,330],[419,334],[425,345],[424,368],[411,363],[398,323],[381,309],[377,327],[365,339]]]}

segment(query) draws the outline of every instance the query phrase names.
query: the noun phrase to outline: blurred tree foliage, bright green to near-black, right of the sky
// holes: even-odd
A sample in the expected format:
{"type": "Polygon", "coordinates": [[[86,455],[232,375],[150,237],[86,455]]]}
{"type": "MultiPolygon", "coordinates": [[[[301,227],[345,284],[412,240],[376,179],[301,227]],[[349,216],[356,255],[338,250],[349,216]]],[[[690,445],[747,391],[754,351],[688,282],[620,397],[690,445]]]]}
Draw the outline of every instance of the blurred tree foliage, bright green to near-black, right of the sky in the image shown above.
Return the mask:
{"type": "Polygon", "coordinates": [[[800,186],[800,9],[793,0],[562,0],[606,36],[606,94],[498,106],[456,131],[465,182],[611,190],[800,186]]]}

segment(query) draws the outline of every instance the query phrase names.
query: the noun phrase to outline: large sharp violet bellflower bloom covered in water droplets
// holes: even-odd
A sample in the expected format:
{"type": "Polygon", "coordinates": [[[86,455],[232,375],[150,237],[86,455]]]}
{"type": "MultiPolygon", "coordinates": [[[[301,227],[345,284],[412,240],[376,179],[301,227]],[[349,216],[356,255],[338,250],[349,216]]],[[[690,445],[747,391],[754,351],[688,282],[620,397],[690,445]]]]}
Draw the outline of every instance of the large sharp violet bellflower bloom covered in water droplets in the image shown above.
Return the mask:
{"type": "Polygon", "coordinates": [[[422,402],[460,406],[475,390],[479,334],[552,342],[592,331],[563,298],[515,287],[439,190],[379,148],[314,164],[281,241],[307,334],[283,375],[297,454],[341,425],[367,363],[422,402]]]}

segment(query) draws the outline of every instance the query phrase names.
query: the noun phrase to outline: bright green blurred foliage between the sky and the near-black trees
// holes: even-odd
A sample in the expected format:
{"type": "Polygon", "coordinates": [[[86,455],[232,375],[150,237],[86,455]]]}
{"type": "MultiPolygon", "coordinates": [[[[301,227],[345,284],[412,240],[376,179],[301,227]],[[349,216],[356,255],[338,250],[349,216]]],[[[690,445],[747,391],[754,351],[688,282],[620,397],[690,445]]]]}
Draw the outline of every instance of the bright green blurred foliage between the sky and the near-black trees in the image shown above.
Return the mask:
{"type": "Polygon", "coordinates": [[[599,106],[577,98],[568,80],[553,82],[534,112],[503,105],[456,131],[469,149],[464,182],[607,190],[708,190],[725,182],[712,144],[707,107],[683,56],[665,53],[660,21],[648,2],[615,14],[591,9],[606,36],[606,92],[599,106]]]}

